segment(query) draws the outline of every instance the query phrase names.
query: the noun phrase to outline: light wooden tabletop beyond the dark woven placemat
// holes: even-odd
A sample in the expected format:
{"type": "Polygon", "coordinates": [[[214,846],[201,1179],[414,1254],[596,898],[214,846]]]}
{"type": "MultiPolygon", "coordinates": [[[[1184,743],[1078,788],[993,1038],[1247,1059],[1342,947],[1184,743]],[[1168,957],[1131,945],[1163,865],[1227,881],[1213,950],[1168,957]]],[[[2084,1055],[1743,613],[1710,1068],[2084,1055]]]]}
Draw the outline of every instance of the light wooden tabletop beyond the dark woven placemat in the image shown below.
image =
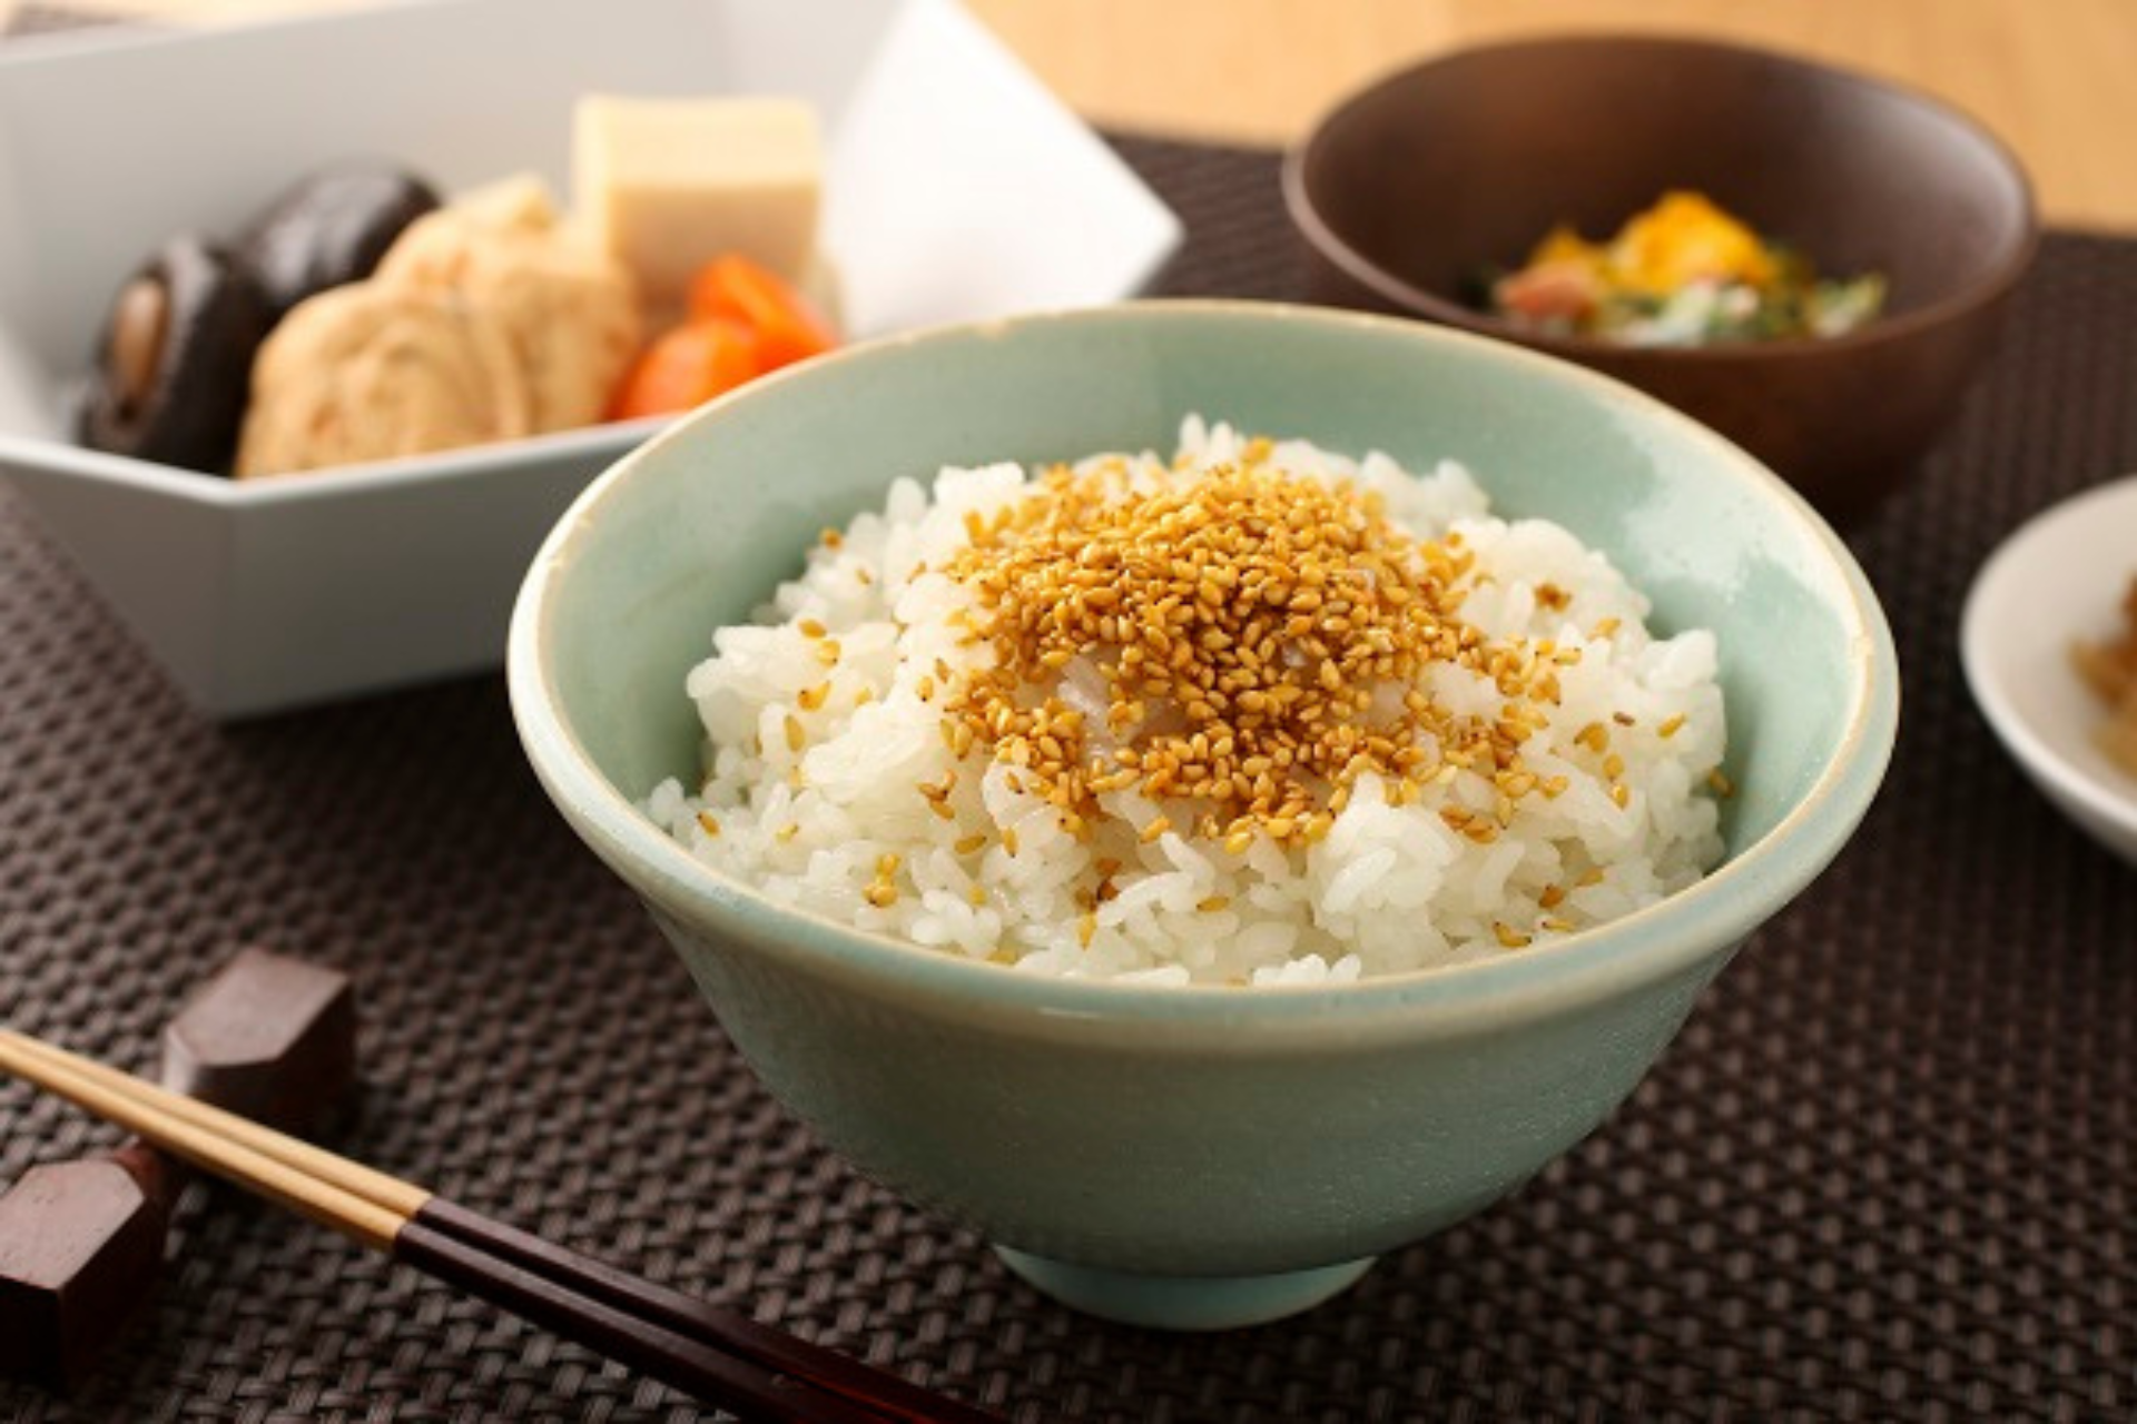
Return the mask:
{"type": "MultiPolygon", "coordinates": [[[[83,0],[216,21],[361,0],[83,0]]],[[[21,0],[0,0],[0,17],[21,0]]],[[[1077,111],[1284,143],[1366,77],[1489,38],[1643,30],[1836,60],[2009,141],[2052,224],[2137,233],[2137,0],[968,0],[1077,111]]]]}

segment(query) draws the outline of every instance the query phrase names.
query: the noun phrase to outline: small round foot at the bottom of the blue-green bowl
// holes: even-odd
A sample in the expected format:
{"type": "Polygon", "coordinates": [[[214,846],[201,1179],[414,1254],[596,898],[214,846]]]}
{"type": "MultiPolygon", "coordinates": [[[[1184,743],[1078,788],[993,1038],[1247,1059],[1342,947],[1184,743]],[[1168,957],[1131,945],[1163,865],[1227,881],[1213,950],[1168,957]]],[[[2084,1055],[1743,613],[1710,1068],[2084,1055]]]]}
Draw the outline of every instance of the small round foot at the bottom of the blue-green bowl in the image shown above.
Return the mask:
{"type": "Polygon", "coordinates": [[[1235,1330],[1297,1315],[1348,1287],[1374,1262],[1368,1255],[1265,1277],[1163,1277],[1075,1266],[1011,1247],[996,1247],[994,1253],[1066,1307],[1158,1330],[1235,1330]]]}

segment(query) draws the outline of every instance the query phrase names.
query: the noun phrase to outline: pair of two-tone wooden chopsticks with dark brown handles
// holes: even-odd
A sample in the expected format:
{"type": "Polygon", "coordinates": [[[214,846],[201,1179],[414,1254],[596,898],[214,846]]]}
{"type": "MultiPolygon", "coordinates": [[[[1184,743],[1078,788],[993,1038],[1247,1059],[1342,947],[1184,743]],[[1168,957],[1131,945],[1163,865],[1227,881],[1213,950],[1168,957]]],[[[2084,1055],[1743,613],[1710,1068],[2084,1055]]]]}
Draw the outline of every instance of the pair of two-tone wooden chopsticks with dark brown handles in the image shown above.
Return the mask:
{"type": "Polygon", "coordinates": [[[423,1187],[0,1029],[0,1070],[359,1245],[744,1418],[981,1424],[994,1415],[898,1375],[566,1251],[423,1187]]]}

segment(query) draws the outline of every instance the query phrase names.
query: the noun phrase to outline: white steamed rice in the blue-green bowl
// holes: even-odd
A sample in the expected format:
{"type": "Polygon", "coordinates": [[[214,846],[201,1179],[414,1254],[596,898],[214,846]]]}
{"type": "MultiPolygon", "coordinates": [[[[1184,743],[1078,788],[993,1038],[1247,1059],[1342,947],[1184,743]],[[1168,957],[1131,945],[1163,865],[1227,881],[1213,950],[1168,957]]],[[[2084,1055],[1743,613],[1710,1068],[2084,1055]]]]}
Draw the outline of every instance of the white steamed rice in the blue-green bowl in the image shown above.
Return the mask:
{"type": "MultiPolygon", "coordinates": [[[[1195,468],[1233,461],[1244,446],[1244,436],[1197,416],[1180,440],[1195,468]]],[[[1086,468],[1101,459],[1122,457],[1086,468]]],[[[1158,455],[1126,459],[1139,480],[1180,478],[1158,455]]],[[[1487,636],[1581,649],[1562,668],[1549,726],[1522,747],[1539,777],[1566,777],[1562,794],[1524,798],[1492,843],[1440,816],[1494,805],[1475,771],[1402,807],[1387,805],[1368,773],[1314,845],[1257,837],[1231,854],[1180,833],[1145,845],[1135,826],[1160,807],[1137,790],[1101,794],[1111,816],[1088,839],[1060,830],[1056,809],[1030,788],[1011,790],[1009,769],[985,747],[960,762],[940,734],[940,705],[921,698],[936,660],[994,660],[987,643],[962,643],[951,623],[974,596],[932,570],[968,547],[968,510],[992,517],[1028,491],[1032,476],[1002,463],[942,470],[932,491],[900,478],[880,512],[810,549],[806,572],[780,585],[756,623],[720,628],[714,655],[686,679],[709,771],[695,794],[673,779],[658,786],[648,813],[705,865],[810,914],[1026,974],[1163,984],[1344,982],[1492,959],[1511,952],[1509,927],[1543,944],[1671,895],[1720,858],[1712,634],[1652,636],[1648,600],[1601,553],[1541,519],[1494,519],[1455,463],[1413,476],[1385,455],[1353,461],[1304,442],[1278,442],[1267,463],[1295,478],[1348,476],[1385,495],[1387,519],[1417,538],[1457,532],[1477,555],[1464,621],[1487,636]],[[1545,583],[1571,598],[1539,604],[1545,583]],[[823,636],[840,647],[829,675],[823,636]],[[827,677],[829,696],[810,709],[804,690],[827,677]],[[791,719],[806,732],[799,749],[789,745],[791,719]],[[1573,741],[1590,724],[1609,726],[1611,751],[1624,758],[1624,805],[1573,741]],[[915,788],[940,786],[953,769],[945,820],[915,788]],[[1017,854],[1002,845],[1009,830],[1017,854]],[[953,850],[977,835],[983,854],[953,850]],[[885,856],[898,856],[898,895],[878,905],[868,890],[885,856]],[[1094,907],[1092,931],[1086,907],[1107,858],[1124,869],[1111,875],[1118,892],[1094,907]]],[[[1500,700],[1483,677],[1445,664],[1430,692],[1457,713],[1500,700]]]]}

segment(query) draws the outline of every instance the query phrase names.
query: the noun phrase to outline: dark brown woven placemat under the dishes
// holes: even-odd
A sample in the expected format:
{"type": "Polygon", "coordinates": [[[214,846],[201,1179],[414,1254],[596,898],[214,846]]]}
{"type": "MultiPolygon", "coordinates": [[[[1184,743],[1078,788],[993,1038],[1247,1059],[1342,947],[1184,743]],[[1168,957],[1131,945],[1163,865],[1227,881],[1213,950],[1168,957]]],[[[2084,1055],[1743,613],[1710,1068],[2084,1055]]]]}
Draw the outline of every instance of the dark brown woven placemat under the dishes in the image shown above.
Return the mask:
{"type": "MultiPolygon", "coordinates": [[[[1173,292],[1297,295],[1267,154],[1124,141],[1173,292]]],[[[0,1016],[147,1072],[237,946],[355,971],[329,1134],[573,1247],[1019,1420],[2041,1418],[2137,1398],[2137,875],[1960,683],[1970,572],[2137,468],[2137,243],[2052,237],[1923,478],[1855,547],[1906,728],[1842,860],[1519,1196],[1289,1324],[1062,1311],[853,1176],[744,1070],[524,769],[498,679],[212,728],[0,495],[0,1016]]],[[[1868,399],[1868,397],[1866,397],[1868,399]]],[[[0,1178],[111,1142],[0,1087],[0,1178]]],[[[165,1285],[17,1420],[692,1420],[686,1398],[194,1189],[165,1285]]]]}

